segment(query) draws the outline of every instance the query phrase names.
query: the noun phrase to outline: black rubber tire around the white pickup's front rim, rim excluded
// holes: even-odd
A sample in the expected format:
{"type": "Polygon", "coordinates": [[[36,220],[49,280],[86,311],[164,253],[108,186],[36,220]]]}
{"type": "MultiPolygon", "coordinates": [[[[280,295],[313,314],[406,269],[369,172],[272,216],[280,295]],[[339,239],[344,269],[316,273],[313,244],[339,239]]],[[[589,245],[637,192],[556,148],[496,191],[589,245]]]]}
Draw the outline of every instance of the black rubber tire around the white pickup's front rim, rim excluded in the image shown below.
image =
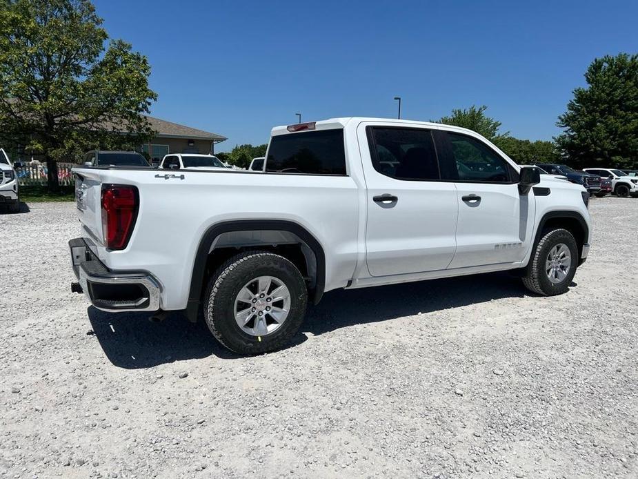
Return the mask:
{"type": "Polygon", "coordinates": [[[532,256],[526,269],[526,275],[522,277],[523,284],[533,293],[543,296],[555,296],[566,293],[576,274],[578,261],[578,245],[572,233],[562,228],[546,231],[532,251],[532,256]],[[571,264],[566,277],[564,277],[561,282],[555,284],[550,281],[545,271],[545,262],[551,249],[561,243],[569,248],[571,264]]]}

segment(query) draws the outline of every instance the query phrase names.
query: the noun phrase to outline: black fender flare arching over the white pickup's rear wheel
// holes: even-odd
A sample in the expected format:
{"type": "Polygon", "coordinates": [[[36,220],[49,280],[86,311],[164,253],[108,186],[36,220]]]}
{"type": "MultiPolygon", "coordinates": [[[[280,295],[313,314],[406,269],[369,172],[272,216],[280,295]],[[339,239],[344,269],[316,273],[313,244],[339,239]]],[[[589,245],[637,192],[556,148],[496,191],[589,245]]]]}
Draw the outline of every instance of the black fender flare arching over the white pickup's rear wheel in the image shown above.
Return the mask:
{"type": "Polygon", "coordinates": [[[312,302],[319,303],[326,287],[326,255],[317,239],[303,228],[300,224],[283,219],[240,219],[237,221],[221,222],[210,226],[202,235],[199,247],[195,254],[195,262],[192,265],[192,275],[190,278],[190,291],[188,293],[188,304],[186,305],[186,316],[192,322],[197,320],[199,303],[201,302],[201,292],[203,289],[204,274],[206,273],[206,260],[215,239],[223,233],[233,231],[288,231],[297,235],[315,253],[317,259],[317,278],[312,302]]]}

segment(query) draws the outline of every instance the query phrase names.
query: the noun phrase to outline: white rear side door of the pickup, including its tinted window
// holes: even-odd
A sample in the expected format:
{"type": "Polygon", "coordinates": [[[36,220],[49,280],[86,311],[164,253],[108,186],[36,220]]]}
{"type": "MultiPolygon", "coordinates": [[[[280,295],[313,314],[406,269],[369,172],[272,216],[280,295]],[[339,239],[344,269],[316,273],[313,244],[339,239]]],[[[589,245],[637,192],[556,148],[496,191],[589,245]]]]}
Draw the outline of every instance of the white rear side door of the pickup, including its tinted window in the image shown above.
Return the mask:
{"type": "Polygon", "coordinates": [[[366,262],[372,276],[448,267],[455,253],[457,194],[441,182],[432,132],[362,123],[366,179],[366,262]]]}

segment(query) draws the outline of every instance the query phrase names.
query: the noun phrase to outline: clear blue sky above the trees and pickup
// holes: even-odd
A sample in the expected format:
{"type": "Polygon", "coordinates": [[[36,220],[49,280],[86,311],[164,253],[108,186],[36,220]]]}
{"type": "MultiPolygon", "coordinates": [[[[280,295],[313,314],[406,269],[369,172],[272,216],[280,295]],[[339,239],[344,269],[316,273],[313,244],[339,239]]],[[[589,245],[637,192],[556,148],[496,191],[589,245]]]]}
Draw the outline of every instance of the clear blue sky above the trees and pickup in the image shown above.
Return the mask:
{"type": "Polygon", "coordinates": [[[559,133],[595,57],[638,52],[637,1],[94,0],[152,66],[152,115],[228,137],[343,116],[437,119],[486,104],[503,130],[559,133]]]}

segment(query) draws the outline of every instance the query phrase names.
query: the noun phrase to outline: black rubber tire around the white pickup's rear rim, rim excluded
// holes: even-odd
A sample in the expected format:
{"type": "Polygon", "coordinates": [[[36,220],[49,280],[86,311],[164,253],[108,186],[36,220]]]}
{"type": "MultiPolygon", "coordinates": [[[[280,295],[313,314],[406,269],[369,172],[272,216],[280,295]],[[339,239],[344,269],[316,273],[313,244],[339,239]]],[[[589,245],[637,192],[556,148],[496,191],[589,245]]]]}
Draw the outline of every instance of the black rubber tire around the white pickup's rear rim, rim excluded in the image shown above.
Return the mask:
{"type": "Polygon", "coordinates": [[[273,253],[246,251],[230,258],[212,275],[203,299],[203,313],[212,335],[230,351],[261,354],[281,349],[292,340],[306,315],[307,302],[306,282],[295,264],[273,253]],[[286,285],[290,309],[279,328],[258,337],[242,331],[235,321],[234,309],[239,291],[259,276],[272,276],[286,285]]]}

